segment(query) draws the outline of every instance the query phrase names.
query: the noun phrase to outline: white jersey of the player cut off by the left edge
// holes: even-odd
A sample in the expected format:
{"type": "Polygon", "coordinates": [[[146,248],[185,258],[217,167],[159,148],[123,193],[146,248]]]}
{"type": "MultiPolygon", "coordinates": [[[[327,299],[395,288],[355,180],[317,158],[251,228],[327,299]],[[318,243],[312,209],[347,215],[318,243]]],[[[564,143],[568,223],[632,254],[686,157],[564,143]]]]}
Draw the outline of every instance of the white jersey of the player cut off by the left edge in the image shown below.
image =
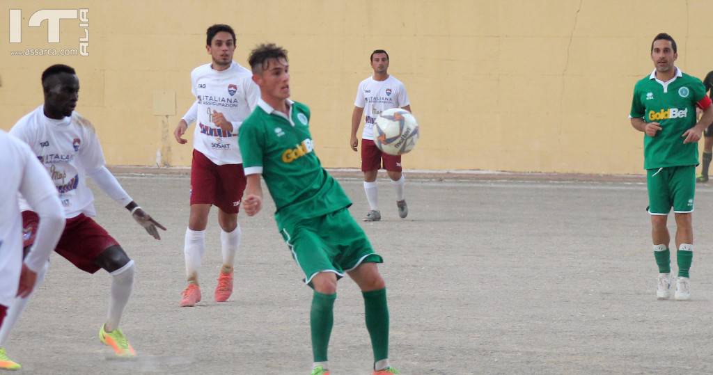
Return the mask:
{"type": "Polygon", "coordinates": [[[2,130],[0,173],[0,304],[9,307],[22,266],[22,216],[17,193],[39,202],[57,192],[30,148],[2,130]]]}

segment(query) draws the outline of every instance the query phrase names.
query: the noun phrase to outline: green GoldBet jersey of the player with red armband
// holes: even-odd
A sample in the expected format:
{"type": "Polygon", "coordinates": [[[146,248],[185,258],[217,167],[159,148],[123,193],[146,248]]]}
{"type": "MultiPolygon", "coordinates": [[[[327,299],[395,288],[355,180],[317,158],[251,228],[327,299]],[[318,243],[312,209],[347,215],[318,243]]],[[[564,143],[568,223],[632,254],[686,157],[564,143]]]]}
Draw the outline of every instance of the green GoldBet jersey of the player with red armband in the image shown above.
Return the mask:
{"type": "Polygon", "coordinates": [[[630,117],[661,124],[655,137],[644,135],[645,169],[698,164],[698,144],[684,144],[681,135],[696,124],[696,104],[705,95],[703,83],[679,68],[668,82],[654,71],[636,83],[630,117]]]}

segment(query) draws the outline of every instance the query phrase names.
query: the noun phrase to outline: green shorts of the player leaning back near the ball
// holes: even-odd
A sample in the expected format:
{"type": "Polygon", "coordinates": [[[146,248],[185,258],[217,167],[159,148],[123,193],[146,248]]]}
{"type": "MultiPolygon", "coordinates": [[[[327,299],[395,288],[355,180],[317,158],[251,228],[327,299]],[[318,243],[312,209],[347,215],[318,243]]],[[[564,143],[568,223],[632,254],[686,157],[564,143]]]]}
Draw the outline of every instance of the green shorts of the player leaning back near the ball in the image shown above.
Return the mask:
{"type": "Polygon", "coordinates": [[[347,208],[302,220],[280,234],[308,285],[319,272],[334,272],[341,278],[361,263],[384,262],[347,208]]]}

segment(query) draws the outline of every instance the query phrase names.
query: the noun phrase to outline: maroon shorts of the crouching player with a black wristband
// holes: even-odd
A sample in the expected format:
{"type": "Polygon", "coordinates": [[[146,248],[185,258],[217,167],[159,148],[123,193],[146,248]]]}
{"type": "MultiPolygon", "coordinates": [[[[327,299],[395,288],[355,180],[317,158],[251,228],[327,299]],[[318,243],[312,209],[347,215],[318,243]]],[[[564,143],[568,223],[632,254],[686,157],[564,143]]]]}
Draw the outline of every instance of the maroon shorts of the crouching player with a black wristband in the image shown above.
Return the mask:
{"type": "MultiPolygon", "coordinates": [[[[24,246],[32,245],[37,234],[39,217],[35,212],[22,212],[24,246]]],[[[84,214],[67,219],[62,236],[54,251],[82,271],[93,274],[99,267],[96,258],[104,250],[119,245],[101,225],[84,214]]]]}

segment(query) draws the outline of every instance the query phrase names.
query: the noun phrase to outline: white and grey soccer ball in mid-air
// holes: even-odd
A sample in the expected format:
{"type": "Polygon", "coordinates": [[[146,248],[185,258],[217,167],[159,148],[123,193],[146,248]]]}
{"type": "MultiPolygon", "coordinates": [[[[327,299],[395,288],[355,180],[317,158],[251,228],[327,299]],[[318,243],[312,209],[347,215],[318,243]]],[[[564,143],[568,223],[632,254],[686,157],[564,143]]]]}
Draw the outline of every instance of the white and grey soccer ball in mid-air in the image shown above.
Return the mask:
{"type": "Polygon", "coordinates": [[[401,155],[414,149],[419,140],[419,124],[409,111],[391,108],[374,121],[374,143],[389,155],[401,155]]]}

